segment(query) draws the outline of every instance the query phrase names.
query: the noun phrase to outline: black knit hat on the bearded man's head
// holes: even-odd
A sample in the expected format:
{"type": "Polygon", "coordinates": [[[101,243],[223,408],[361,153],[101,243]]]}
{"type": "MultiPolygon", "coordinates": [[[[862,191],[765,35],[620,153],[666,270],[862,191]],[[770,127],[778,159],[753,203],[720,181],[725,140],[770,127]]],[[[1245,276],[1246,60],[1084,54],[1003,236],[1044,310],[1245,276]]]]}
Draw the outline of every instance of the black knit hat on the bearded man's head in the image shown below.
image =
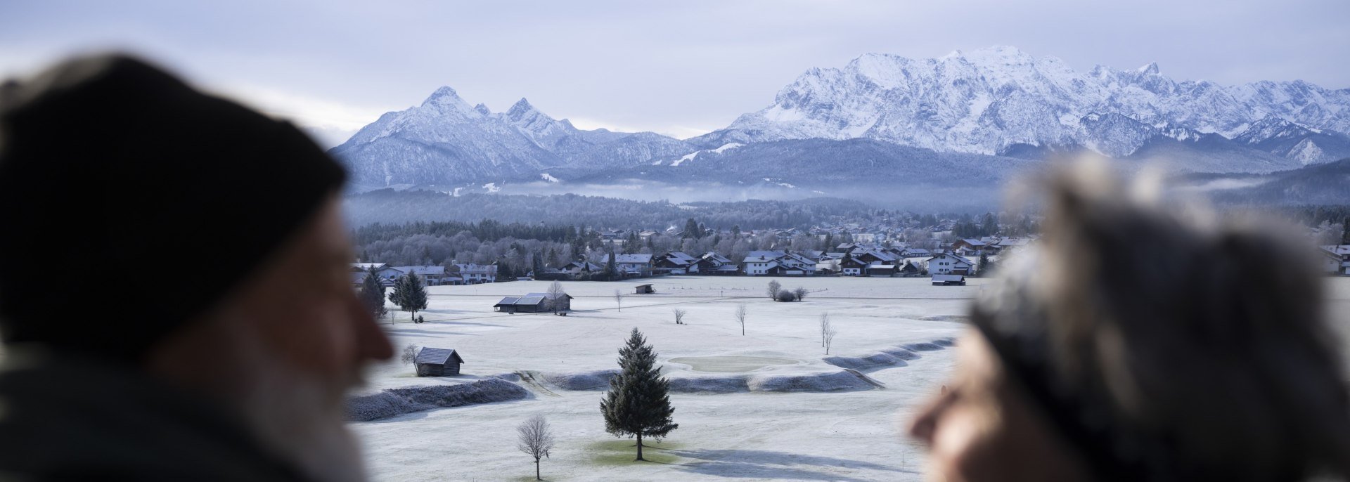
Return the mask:
{"type": "Polygon", "coordinates": [[[0,335],[136,362],[346,174],[285,122],[122,55],[0,89],[0,335]]]}

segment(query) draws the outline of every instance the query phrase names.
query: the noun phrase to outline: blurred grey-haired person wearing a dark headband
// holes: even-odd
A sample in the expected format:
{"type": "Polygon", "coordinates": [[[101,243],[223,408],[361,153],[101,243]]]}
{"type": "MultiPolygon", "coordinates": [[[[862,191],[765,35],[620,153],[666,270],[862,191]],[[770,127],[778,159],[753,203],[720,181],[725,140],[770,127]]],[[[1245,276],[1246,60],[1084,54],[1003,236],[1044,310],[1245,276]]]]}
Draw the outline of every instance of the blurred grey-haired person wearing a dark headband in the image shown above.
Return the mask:
{"type": "Polygon", "coordinates": [[[936,481],[1350,475],[1322,279],[1278,227],[1188,216],[1089,169],[976,302],[950,389],[913,421],[936,481]]]}

